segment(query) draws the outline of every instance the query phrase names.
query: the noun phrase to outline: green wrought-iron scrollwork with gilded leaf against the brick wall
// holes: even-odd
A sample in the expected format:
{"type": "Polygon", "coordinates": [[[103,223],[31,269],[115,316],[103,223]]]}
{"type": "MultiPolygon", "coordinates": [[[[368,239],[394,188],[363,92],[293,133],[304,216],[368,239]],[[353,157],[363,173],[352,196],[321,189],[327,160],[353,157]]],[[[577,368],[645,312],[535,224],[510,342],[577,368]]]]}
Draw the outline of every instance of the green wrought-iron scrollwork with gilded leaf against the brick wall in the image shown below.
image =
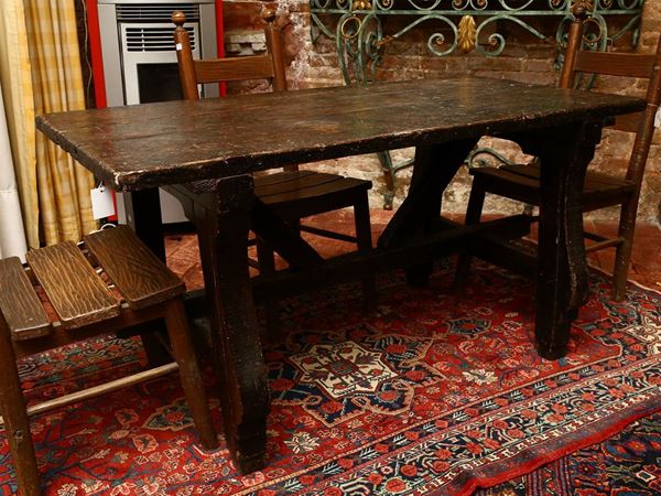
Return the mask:
{"type": "MultiPolygon", "coordinates": [[[[562,47],[576,3],[589,14],[592,26],[585,42],[590,48],[607,50],[626,34],[633,45],[638,43],[644,0],[311,0],[311,17],[313,40],[319,35],[335,40],[345,83],[368,84],[377,79],[386,46],[421,25],[434,25],[426,47],[440,57],[468,52],[498,56],[507,47],[507,39],[499,32],[507,24],[562,47]],[[392,33],[386,33],[383,21],[393,15],[400,22],[392,33]],[[559,20],[554,33],[539,28],[535,20],[541,18],[559,20]],[[617,22],[609,22],[616,18],[617,22]]],[[[395,164],[388,152],[379,153],[379,160],[387,183],[384,207],[390,208],[394,176],[411,163],[395,164]]]]}

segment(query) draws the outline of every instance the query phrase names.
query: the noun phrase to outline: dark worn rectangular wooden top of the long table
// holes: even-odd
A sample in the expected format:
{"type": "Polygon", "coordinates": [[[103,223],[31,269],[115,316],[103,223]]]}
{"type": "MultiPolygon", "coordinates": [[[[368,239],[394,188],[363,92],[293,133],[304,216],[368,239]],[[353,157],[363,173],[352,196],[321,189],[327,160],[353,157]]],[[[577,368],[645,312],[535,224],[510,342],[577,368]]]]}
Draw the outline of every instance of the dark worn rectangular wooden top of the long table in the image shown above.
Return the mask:
{"type": "Polygon", "coordinates": [[[37,128],[120,191],[548,128],[642,99],[501,79],[426,79],[51,114],[37,128]]]}

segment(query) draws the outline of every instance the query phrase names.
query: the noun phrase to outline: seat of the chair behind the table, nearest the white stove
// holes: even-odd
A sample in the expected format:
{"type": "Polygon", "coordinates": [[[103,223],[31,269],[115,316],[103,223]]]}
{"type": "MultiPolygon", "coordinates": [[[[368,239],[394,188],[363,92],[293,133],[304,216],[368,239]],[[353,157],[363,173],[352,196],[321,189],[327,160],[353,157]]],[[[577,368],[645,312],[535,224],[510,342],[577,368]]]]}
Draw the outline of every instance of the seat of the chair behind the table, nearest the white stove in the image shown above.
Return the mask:
{"type": "MultiPolygon", "coordinates": [[[[195,181],[184,186],[199,195],[212,193],[216,181],[195,181]]],[[[357,194],[370,188],[370,181],[315,171],[284,171],[254,177],[254,194],[284,219],[351,206],[357,194]]]]}

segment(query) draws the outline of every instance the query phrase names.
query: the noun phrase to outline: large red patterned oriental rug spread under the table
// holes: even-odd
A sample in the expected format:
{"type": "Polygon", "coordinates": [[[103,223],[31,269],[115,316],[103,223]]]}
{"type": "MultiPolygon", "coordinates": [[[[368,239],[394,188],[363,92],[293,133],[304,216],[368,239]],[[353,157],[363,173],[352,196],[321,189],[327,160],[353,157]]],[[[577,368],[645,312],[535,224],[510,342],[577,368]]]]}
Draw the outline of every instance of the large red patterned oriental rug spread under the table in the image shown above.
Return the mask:
{"type": "MultiPolygon", "coordinates": [[[[201,451],[166,377],[34,418],[45,493],[469,494],[661,409],[661,294],[631,285],[614,303],[593,274],[571,353],[548,362],[532,346],[531,282],[473,272],[460,298],[449,267],[424,290],[382,278],[369,317],[354,285],[284,302],[285,337],[264,351],[264,471],[240,476],[224,449],[201,451]]],[[[134,341],[105,338],[26,359],[21,374],[31,398],[47,398],[142,358],[134,341]]],[[[11,494],[4,436],[0,461],[11,494]]]]}

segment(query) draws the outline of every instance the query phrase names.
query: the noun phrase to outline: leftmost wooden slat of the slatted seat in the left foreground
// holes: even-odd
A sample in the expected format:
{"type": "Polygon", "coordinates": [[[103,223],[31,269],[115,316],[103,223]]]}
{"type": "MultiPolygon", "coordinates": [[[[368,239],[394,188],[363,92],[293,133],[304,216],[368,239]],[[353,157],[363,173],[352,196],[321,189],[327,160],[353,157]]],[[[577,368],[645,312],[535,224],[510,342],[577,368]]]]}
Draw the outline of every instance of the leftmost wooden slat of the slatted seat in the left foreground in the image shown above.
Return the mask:
{"type": "Polygon", "coordinates": [[[52,326],[18,257],[0,260],[0,311],[14,341],[51,333],[52,326]]]}

